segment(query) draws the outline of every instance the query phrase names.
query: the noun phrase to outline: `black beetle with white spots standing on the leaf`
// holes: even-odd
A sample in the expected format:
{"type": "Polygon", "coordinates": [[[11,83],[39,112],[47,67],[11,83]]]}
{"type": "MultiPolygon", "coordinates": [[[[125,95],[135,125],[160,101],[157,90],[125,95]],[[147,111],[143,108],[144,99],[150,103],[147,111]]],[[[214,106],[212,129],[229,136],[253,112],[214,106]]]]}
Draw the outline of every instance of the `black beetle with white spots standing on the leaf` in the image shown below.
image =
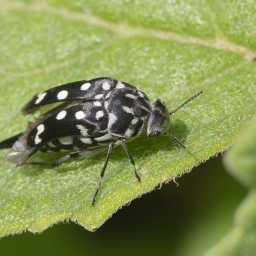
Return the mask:
{"type": "Polygon", "coordinates": [[[18,166],[25,164],[37,151],[72,151],[51,164],[59,166],[70,157],[90,157],[108,150],[93,196],[93,205],[111,151],[117,145],[121,144],[124,148],[140,181],[125,142],[138,137],[146,122],[148,138],[164,134],[186,148],[175,136],[167,133],[170,115],[200,93],[169,113],[162,100],[155,99],[150,106],[147,95],[140,89],[110,77],[63,84],[36,95],[22,108],[23,115],[28,116],[41,110],[42,106],[58,103],[58,106],[42,113],[35,122],[29,123],[26,131],[2,141],[0,148],[12,147],[7,159],[18,166]]]}

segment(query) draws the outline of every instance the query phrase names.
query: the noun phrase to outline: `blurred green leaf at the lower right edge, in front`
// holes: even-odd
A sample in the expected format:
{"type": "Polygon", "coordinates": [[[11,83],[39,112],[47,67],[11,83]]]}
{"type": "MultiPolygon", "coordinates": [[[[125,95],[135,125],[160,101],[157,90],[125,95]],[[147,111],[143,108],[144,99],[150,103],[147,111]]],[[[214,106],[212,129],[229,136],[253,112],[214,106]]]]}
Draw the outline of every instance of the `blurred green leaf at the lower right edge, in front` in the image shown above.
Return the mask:
{"type": "Polygon", "coordinates": [[[236,211],[232,230],[206,253],[207,256],[253,255],[256,251],[255,129],[254,120],[246,132],[240,136],[236,146],[225,154],[228,171],[251,189],[236,211]]]}

